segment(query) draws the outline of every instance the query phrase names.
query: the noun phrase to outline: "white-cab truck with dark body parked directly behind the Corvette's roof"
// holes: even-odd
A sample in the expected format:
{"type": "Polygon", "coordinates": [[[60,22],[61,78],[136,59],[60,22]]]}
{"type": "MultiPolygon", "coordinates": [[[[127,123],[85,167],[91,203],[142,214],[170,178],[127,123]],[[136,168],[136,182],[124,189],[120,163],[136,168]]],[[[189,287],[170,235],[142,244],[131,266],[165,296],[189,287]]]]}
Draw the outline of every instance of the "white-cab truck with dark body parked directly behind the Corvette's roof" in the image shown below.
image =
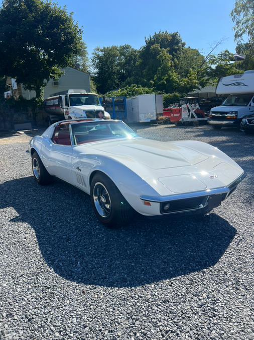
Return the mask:
{"type": "Polygon", "coordinates": [[[44,101],[44,109],[48,113],[49,125],[64,118],[110,119],[110,115],[100,105],[98,95],[85,90],[54,93],[44,101]]]}

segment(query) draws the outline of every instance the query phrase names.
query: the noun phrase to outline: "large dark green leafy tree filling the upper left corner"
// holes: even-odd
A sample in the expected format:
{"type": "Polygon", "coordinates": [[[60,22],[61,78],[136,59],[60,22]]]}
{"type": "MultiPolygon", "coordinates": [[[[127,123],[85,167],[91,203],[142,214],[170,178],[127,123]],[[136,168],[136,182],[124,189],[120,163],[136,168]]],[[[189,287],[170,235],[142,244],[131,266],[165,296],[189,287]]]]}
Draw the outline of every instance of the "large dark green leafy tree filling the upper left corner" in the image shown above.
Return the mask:
{"type": "Polygon", "coordinates": [[[4,0],[0,9],[0,76],[16,78],[37,98],[60,67],[78,55],[82,31],[66,8],[43,0],[4,0]]]}

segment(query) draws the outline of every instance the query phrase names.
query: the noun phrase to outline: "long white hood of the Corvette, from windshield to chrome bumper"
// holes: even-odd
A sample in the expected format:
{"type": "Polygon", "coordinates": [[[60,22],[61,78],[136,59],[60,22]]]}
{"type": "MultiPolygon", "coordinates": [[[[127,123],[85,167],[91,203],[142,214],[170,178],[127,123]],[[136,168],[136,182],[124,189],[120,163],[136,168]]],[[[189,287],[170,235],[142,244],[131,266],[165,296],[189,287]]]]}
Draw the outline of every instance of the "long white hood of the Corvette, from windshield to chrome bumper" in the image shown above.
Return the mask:
{"type": "MultiPolygon", "coordinates": [[[[120,162],[160,195],[226,186],[243,173],[220,150],[196,141],[158,142],[137,138],[91,143],[89,148],[88,145],[78,148],[86,149],[83,149],[86,156],[90,153],[97,159],[101,155],[120,162]]],[[[110,162],[108,164],[110,166],[110,162]]]]}

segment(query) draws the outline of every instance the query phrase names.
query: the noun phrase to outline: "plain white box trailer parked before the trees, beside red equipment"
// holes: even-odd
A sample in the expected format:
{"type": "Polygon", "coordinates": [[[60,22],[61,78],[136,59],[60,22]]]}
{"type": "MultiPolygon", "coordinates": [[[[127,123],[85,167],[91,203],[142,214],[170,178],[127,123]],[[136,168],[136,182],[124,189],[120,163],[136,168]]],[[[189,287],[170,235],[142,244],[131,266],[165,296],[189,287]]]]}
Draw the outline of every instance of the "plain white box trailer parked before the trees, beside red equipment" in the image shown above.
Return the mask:
{"type": "Polygon", "coordinates": [[[126,110],[130,123],[156,120],[156,115],[163,113],[163,96],[151,93],[127,98],[126,110]]]}

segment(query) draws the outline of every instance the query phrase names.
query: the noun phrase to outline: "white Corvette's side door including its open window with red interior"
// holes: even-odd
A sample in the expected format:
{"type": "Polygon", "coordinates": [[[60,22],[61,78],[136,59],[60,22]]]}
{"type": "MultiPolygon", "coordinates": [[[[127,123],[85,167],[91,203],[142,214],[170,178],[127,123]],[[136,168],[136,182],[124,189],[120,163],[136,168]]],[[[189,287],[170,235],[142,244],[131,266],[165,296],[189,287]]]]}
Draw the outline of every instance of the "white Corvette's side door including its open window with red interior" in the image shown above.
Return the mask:
{"type": "Polygon", "coordinates": [[[51,175],[71,183],[72,145],[69,123],[56,126],[51,140],[43,144],[42,156],[51,175]]]}

